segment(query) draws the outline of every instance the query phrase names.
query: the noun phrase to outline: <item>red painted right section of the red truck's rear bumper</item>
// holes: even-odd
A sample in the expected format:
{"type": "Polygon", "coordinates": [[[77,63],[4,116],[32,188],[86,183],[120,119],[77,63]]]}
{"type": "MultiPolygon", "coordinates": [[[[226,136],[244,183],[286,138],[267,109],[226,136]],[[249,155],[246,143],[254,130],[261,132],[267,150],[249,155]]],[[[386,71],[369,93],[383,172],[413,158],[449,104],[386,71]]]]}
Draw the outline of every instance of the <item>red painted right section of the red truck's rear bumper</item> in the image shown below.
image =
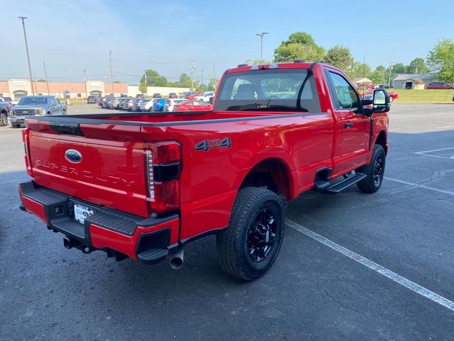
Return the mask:
{"type": "Polygon", "coordinates": [[[130,258],[137,259],[136,248],[140,234],[159,231],[163,228],[170,228],[170,244],[175,244],[178,242],[179,224],[180,221],[176,218],[153,227],[137,227],[132,236],[90,224],[91,242],[97,249],[109,248],[119,251],[130,258]]]}

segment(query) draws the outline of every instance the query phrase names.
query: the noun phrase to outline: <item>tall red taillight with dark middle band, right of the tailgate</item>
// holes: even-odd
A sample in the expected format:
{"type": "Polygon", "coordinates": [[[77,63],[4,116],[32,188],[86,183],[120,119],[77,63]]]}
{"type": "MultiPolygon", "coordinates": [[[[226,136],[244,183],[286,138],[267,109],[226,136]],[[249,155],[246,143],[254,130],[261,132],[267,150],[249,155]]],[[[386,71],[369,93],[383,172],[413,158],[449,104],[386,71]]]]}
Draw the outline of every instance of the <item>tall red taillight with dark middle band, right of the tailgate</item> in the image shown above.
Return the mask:
{"type": "Polygon", "coordinates": [[[149,211],[164,213],[180,205],[181,148],[175,141],[145,143],[149,211]]]}

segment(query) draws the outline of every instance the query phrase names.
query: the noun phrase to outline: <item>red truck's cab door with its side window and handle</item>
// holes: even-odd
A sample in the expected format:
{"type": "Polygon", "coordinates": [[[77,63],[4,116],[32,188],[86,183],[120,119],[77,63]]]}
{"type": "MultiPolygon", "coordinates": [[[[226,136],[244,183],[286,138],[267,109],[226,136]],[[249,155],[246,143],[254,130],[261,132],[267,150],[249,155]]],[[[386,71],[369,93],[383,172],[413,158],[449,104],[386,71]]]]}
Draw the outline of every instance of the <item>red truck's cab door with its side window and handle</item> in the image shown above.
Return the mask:
{"type": "Polygon", "coordinates": [[[326,70],[326,75],[341,132],[333,175],[341,175],[367,161],[371,119],[364,114],[358,92],[343,75],[334,70],[326,70]]]}

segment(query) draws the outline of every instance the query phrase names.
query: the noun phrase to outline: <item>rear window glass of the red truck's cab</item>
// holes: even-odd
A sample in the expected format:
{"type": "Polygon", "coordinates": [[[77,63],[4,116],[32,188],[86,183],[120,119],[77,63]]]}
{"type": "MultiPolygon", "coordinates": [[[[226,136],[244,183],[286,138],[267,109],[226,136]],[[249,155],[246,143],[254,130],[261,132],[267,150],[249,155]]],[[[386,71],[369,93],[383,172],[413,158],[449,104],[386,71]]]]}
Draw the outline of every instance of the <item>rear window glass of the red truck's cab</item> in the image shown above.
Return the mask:
{"type": "Polygon", "coordinates": [[[312,71],[257,70],[225,75],[214,110],[320,112],[312,71]]]}

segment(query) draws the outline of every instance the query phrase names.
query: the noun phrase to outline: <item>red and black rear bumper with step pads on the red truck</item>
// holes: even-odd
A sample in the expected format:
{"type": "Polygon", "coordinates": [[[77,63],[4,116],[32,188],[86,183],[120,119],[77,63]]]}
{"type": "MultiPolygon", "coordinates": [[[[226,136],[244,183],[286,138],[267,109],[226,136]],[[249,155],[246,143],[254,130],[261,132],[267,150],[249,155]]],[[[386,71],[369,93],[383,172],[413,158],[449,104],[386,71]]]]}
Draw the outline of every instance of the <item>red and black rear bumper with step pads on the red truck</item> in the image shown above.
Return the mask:
{"type": "Polygon", "coordinates": [[[68,249],[84,253],[103,250],[117,260],[130,257],[152,264],[179,248],[178,214],[143,219],[38,187],[33,181],[20,183],[18,190],[20,209],[38,216],[54,232],[63,233],[68,249]],[[74,204],[94,212],[83,225],[74,219],[74,204]]]}

